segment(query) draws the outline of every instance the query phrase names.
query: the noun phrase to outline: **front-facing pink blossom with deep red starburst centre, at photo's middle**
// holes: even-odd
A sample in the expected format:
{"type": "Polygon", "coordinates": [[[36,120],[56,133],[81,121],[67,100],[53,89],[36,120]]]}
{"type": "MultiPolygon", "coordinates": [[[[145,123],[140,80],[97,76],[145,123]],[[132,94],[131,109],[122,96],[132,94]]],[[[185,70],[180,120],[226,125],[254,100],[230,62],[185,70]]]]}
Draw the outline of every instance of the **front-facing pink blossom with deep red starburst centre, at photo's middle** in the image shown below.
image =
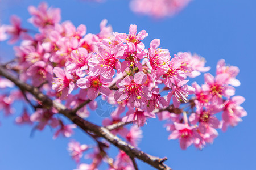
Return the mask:
{"type": "Polygon", "coordinates": [[[116,101],[128,100],[131,107],[140,107],[142,103],[142,97],[150,100],[152,92],[146,86],[143,86],[147,80],[147,75],[143,72],[124,78],[121,82],[117,83],[117,90],[114,94],[116,101]]]}

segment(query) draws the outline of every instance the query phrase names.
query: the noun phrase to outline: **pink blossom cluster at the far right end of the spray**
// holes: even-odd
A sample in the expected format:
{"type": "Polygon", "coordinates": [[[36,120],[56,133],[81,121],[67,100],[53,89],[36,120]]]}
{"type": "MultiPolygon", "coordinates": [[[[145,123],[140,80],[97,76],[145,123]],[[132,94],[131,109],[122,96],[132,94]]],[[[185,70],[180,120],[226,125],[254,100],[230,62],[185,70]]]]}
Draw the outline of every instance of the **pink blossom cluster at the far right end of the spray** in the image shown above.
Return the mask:
{"type": "Polygon", "coordinates": [[[168,120],[167,130],[171,131],[169,139],[179,139],[182,149],[192,144],[202,149],[218,136],[216,129],[226,131],[228,126],[241,122],[241,117],[247,116],[247,112],[240,106],[245,98],[234,96],[234,87],[240,86],[236,79],[238,72],[238,67],[226,66],[224,59],[221,59],[215,77],[205,73],[203,85],[192,83],[195,97],[188,101],[187,109],[160,113],[160,120],[168,120]],[[183,114],[179,114],[181,112],[183,114]],[[217,118],[217,113],[222,114],[222,120],[217,118]]]}

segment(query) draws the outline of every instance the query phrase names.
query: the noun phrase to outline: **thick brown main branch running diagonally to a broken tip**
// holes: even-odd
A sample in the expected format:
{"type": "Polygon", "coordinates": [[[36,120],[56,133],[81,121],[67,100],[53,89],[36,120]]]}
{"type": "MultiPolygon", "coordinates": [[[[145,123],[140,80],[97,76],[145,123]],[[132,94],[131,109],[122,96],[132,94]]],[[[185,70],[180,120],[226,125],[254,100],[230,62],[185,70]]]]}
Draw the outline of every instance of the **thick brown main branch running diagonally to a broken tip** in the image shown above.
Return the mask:
{"type": "Polygon", "coordinates": [[[79,126],[82,130],[88,131],[97,135],[98,137],[105,138],[106,141],[109,141],[114,146],[118,147],[120,150],[124,151],[127,155],[131,158],[138,158],[143,162],[150,164],[152,167],[156,169],[167,169],[170,170],[171,168],[168,167],[163,163],[163,159],[151,156],[149,154],[144,153],[141,150],[129,145],[122,139],[118,138],[114,134],[112,134],[109,129],[101,126],[97,126],[89,121],[84,120],[83,118],[73,114],[72,110],[67,109],[63,104],[58,103],[55,100],[50,99],[48,96],[44,95],[42,92],[38,90],[38,88],[32,87],[29,84],[22,82],[20,79],[16,78],[12,74],[9,73],[6,69],[0,66],[0,75],[4,76],[5,78],[11,80],[16,86],[18,86],[21,90],[30,92],[32,95],[36,97],[39,101],[41,101],[43,107],[51,108],[54,107],[60,114],[68,117],[73,123],[79,126]]]}

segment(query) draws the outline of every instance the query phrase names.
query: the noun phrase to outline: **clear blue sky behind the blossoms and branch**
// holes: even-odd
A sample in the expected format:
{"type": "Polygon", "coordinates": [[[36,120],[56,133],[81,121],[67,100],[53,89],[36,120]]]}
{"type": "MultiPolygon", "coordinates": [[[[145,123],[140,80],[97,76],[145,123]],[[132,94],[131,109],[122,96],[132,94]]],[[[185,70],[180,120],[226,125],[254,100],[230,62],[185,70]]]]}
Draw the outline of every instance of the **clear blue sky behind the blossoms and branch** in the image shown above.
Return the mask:
{"type": "MultiPolygon", "coordinates": [[[[38,0],[0,0],[1,23],[8,24],[9,16],[21,16],[26,27],[30,18],[29,5],[37,6],[38,0]]],[[[246,101],[242,106],[248,116],[235,128],[226,133],[219,130],[213,145],[202,151],[193,146],[181,150],[178,141],[168,141],[168,133],[162,122],[149,120],[143,127],[144,138],[139,144],[143,151],[155,156],[167,156],[166,162],[175,170],[183,169],[256,169],[256,114],[255,100],[255,62],[256,62],[256,1],[238,0],[194,0],[174,18],[153,20],[137,16],[128,8],[129,1],[107,0],[105,3],[88,3],[75,0],[47,1],[53,7],[61,8],[62,21],[71,20],[76,26],[85,24],[89,33],[97,33],[102,19],[108,19],[114,32],[129,32],[130,24],[137,24],[138,31],[145,29],[148,37],[146,46],[152,39],[159,38],[162,48],[170,50],[171,55],[179,51],[190,51],[203,56],[210,73],[215,73],[218,59],[240,67],[237,78],[241,86],[236,95],[246,101]]],[[[0,56],[13,56],[11,47],[0,44],[0,56]]],[[[203,80],[203,76],[200,76],[203,80]]],[[[199,80],[197,79],[197,80],[199,80]]],[[[19,114],[20,106],[16,109],[19,114]]],[[[76,168],[66,150],[69,139],[52,140],[52,130],[36,131],[30,137],[30,126],[14,124],[14,116],[0,116],[0,169],[1,170],[69,170],[76,168]]],[[[101,117],[92,113],[90,121],[100,124],[101,117]]],[[[92,143],[80,130],[75,131],[75,139],[81,143],[92,143]]],[[[116,152],[112,150],[111,153],[116,152]]],[[[139,169],[152,169],[138,161],[139,169]]],[[[104,167],[102,167],[104,169],[104,167]]]]}

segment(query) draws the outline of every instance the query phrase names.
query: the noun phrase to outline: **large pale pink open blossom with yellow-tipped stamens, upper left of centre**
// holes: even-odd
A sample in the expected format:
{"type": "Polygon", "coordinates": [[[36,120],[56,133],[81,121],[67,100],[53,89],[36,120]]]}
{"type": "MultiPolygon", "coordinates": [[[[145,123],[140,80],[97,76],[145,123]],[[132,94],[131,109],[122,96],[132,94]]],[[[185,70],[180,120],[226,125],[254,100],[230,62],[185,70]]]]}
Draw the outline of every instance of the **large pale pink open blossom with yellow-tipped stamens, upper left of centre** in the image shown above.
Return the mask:
{"type": "Polygon", "coordinates": [[[96,55],[89,60],[89,65],[93,67],[89,75],[102,75],[106,79],[111,79],[115,74],[114,69],[119,74],[121,63],[118,58],[123,56],[124,51],[121,45],[116,45],[113,51],[108,46],[101,45],[96,55]]]}

